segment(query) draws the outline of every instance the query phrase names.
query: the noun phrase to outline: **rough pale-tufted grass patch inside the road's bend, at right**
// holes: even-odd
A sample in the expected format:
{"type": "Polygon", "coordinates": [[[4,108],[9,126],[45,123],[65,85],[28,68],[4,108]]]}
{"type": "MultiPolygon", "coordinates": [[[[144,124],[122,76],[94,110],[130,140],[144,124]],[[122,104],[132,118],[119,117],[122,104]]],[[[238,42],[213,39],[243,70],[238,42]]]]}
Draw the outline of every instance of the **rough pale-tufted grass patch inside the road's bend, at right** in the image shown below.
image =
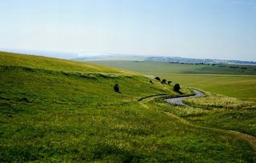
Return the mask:
{"type": "Polygon", "coordinates": [[[182,117],[194,125],[228,129],[256,136],[256,102],[242,101],[210,92],[205,94],[204,97],[183,101],[193,108],[170,107],[161,101],[162,105],[165,105],[162,110],[182,117]]]}

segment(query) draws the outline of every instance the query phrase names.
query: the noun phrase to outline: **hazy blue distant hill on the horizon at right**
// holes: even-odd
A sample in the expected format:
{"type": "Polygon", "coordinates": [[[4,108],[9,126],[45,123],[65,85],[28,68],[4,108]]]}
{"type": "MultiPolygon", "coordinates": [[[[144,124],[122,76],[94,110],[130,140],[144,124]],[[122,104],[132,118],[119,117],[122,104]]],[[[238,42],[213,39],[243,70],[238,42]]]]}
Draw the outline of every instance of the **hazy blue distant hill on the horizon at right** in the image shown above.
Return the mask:
{"type": "Polygon", "coordinates": [[[149,56],[145,61],[153,62],[178,62],[178,63],[224,63],[224,64],[256,64],[253,61],[239,61],[239,60],[213,60],[213,59],[193,59],[169,56],[149,56]]]}

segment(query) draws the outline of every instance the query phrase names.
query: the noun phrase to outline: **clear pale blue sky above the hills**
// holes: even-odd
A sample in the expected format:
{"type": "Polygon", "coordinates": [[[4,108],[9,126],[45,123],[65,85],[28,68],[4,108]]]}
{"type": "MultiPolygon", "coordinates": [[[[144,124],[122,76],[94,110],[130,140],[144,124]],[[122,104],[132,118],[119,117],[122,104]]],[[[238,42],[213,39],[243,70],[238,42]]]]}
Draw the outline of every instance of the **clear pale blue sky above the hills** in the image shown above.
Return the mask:
{"type": "Polygon", "coordinates": [[[256,0],[1,0],[1,49],[256,61],[256,0]]]}

